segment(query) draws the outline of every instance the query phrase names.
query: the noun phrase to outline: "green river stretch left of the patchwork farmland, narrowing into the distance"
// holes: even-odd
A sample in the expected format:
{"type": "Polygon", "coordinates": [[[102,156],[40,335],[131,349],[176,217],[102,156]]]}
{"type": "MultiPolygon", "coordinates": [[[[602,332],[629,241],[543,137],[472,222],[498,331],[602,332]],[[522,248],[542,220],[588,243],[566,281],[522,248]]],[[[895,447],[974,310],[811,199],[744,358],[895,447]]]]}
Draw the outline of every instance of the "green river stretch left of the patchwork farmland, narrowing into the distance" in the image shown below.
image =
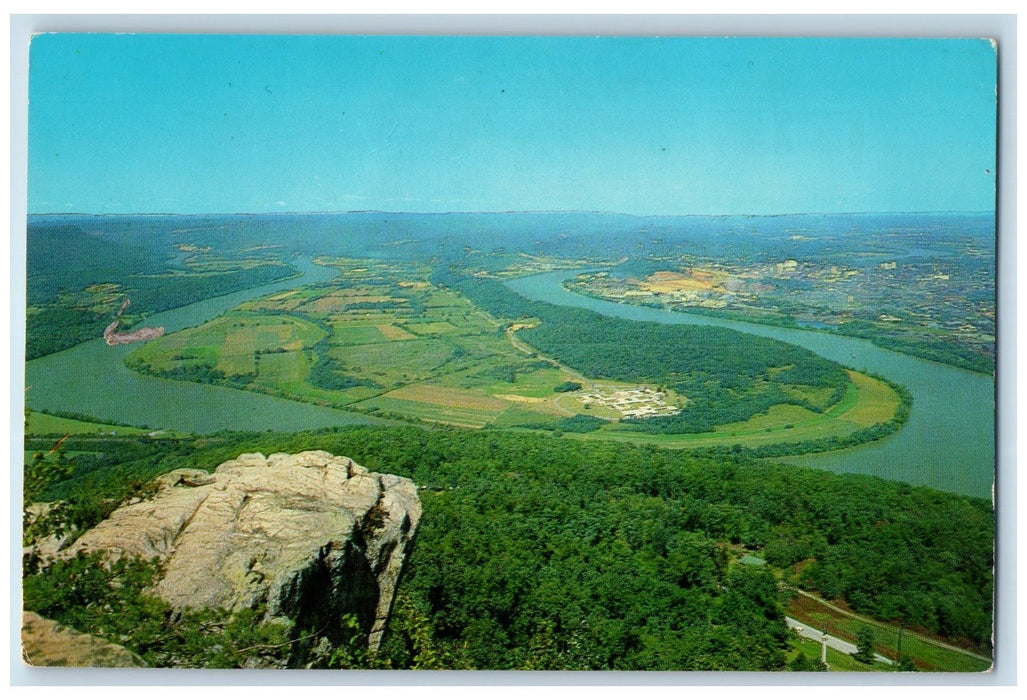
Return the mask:
{"type": "MultiPolygon", "coordinates": [[[[242,302],[331,279],[332,268],[298,258],[302,276],[154,314],[147,325],[167,333],[199,325],[242,302]]],[[[238,389],[137,375],[124,365],[132,345],[111,347],[103,338],[26,363],[26,405],[71,411],[100,419],[194,433],[229,430],[306,430],[384,424],[362,414],[315,406],[238,389]]]]}

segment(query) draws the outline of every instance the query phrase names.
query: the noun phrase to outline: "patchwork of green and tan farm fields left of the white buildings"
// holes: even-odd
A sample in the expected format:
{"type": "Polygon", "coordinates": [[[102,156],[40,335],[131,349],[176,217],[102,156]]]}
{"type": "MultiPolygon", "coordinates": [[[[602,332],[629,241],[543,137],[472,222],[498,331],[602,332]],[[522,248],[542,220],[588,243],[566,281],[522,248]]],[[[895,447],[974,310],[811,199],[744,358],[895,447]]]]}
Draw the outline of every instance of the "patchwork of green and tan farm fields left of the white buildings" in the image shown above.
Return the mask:
{"type": "Polygon", "coordinates": [[[127,362],[170,378],[464,427],[492,423],[512,406],[527,422],[573,415],[550,404],[567,373],[515,348],[500,323],[466,300],[418,280],[425,271],[333,264],[343,272],[333,283],[244,303],[136,349],[127,362]]]}

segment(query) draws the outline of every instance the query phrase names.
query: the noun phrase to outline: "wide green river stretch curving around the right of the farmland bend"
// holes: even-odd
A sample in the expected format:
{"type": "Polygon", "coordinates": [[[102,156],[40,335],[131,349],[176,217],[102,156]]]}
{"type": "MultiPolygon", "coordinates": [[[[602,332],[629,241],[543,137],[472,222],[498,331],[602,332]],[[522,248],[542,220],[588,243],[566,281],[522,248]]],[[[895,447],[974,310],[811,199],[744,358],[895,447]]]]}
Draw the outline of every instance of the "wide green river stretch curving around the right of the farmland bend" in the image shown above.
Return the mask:
{"type": "Polygon", "coordinates": [[[580,307],[607,316],[719,325],[774,338],[801,345],[854,370],[886,377],[913,395],[909,422],[899,432],[858,448],[775,461],[991,498],[995,474],[995,385],[991,377],[884,350],[855,338],[593,299],[564,288],[563,281],[578,272],[563,270],[532,275],[507,280],[506,284],[534,301],[580,307]]]}

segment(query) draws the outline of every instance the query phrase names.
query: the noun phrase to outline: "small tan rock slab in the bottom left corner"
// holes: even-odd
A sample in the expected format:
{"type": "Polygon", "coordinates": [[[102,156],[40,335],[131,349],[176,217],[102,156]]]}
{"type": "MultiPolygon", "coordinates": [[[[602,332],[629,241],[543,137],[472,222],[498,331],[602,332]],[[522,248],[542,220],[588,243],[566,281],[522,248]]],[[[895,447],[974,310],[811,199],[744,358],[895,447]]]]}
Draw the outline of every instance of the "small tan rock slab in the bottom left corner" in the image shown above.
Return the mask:
{"type": "Polygon", "coordinates": [[[124,647],[29,612],[22,616],[22,658],[30,666],[125,668],[145,665],[124,647]]]}

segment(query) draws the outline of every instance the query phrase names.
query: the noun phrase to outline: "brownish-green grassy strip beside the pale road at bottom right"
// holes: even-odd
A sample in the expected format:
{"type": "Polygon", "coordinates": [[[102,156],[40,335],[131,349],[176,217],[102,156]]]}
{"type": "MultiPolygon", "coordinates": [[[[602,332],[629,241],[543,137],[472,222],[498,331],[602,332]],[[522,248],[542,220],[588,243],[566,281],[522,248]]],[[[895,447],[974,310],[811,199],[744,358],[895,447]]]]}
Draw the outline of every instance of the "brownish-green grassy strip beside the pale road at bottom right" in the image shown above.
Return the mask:
{"type": "MultiPolygon", "coordinates": [[[[899,656],[899,629],[891,625],[858,620],[804,595],[792,597],[786,612],[796,620],[846,641],[854,643],[859,629],[870,626],[874,630],[877,653],[889,659],[897,659],[899,656]]],[[[991,667],[990,661],[940,647],[931,639],[910,630],[902,632],[902,654],[913,659],[917,670],[922,671],[980,672],[991,667]]]]}

